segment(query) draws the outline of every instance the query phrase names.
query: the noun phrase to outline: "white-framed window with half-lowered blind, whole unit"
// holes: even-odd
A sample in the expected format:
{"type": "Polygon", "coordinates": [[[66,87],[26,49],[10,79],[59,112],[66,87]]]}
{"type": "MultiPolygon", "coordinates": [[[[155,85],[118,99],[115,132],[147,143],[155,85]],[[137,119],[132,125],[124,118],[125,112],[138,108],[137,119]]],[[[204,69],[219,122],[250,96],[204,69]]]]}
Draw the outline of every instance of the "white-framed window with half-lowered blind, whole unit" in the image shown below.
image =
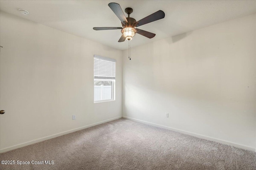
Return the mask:
{"type": "Polygon", "coordinates": [[[115,100],[116,60],[94,55],[94,103],[115,100]]]}

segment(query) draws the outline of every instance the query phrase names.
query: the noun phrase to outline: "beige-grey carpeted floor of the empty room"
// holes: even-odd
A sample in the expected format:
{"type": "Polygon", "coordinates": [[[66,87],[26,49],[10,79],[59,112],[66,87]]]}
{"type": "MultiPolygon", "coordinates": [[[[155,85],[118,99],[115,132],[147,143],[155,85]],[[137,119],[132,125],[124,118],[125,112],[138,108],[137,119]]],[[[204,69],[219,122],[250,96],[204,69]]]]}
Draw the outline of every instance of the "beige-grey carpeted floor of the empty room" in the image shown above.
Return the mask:
{"type": "Polygon", "coordinates": [[[256,170],[256,153],[143,123],[118,119],[0,154],[15,170],[256,170]]]}

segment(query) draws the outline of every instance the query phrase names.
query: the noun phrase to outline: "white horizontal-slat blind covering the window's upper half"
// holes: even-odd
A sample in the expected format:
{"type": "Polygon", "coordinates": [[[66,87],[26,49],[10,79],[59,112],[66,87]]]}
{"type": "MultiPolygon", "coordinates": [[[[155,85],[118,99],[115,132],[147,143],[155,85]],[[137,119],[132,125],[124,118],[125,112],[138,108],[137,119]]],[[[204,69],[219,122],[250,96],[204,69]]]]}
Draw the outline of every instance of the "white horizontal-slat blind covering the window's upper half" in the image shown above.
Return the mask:
{"type": "Polygon", "coordinates": [[[94,78],[116,79],[116,60],[94,55],[94,78]]]}

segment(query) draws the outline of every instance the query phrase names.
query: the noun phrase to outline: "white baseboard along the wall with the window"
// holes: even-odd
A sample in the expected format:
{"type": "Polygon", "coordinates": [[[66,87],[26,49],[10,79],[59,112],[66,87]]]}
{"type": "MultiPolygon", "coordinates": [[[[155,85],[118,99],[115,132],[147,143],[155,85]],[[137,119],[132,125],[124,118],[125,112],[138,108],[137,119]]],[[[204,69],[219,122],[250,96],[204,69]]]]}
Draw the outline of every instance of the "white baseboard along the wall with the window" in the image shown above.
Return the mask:
{"type": "Polygon", "coordinates": [[[91,125],[86,125],[86,126],[83,126],[83,127],[79,127],[79,128],[76,128],[76,129],[69,130],[69,131],[64,131],[64,132],[61,132],[61,133],[50,135],[50,136],[47,136],[47,137],[42,137],[42,138],[39,138],[39,139],[35,139],[35,140],[32,140],[32,141],[28,141],[28,142],[25,142],[25,143],[14,145],[12,147],[7,147],[7,148],[4,148],[4,149],[1,149],[0,153],[7,152],[7,151],[10,151],[10,150],[13,150],[13,149],[18,149],[18,148],[21,148],[21,147],[25,147],[25,146],[28,146],[28,145],[31,145],[31,144],[34,144],[34,143],[42,142],[42,141],[52,139],[52,138],[55,138],[55,137],[59,137],[59,136],[62,136],[62,135],[66,135],[68,133],[72,133],[72,132],[75,132],[75,131],[80,131],[80,130],[86,129],[88,127],[100,125],[102,123],[106,123],[106,122],[113,121],[113,120],[120,119],[120,118],[122,118],[122,116],[114,117],[112,119],[100,121],[100,122],[97,122],[97,123],[93,123],[91,125]]]}

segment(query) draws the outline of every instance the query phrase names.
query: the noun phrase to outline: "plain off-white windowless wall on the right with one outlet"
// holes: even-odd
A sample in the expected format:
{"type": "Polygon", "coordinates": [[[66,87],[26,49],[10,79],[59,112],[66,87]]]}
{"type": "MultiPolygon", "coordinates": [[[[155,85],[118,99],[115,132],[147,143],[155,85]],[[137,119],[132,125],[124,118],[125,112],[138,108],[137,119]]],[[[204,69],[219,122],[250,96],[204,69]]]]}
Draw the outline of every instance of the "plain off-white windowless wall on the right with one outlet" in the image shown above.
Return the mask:
{"type": "Polygon", "coordinates": [[[123,116],[255,150],[255,17],[124,51],[123,116]]]}

